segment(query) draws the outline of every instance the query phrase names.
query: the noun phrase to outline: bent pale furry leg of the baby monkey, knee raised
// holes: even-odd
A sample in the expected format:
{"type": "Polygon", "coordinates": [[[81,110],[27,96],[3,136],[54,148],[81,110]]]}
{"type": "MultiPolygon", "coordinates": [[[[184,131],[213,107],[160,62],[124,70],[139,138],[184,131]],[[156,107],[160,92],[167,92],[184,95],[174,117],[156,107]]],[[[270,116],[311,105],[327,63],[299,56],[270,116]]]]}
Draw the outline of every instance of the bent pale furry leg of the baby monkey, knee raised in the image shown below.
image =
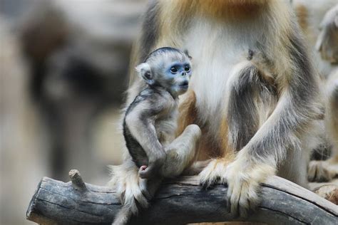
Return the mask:
{"type": "Polygon", "coordinates": [[[163,177],[178,176],[193,162],[198,155],[200,136],[198,125],[188,125],[180,136],[165,147],[167,156],[161,171],[163,177]]]}

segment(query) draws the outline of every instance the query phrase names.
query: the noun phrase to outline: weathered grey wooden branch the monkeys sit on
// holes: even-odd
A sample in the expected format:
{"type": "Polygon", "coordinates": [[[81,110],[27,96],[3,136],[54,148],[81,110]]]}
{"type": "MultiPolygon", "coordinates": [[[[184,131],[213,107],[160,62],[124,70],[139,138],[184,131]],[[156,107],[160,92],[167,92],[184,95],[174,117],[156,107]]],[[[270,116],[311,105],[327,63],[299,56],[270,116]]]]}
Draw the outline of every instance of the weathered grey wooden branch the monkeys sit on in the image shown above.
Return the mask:
{"type": "MultiPolygon", "coordinates": [[[[39,224],[111,224],[121,209],[115,192],[84,184],[77,171],[71,181],[43,177],[31,199],[27,219],[39,224]],[[74,178],[76,177],[76,178],[74,178]]],[[[338,206],[297,184],[272,177],[262,184],[262,202],[245,221],[267,224],[337,224],[338,206]]],[[[203,190],[198,177],[180,177],[163,183],[150,209],[131,224],[186,224],[203,221],[243,221],[226,209],[227,187],[203,190]]]]}

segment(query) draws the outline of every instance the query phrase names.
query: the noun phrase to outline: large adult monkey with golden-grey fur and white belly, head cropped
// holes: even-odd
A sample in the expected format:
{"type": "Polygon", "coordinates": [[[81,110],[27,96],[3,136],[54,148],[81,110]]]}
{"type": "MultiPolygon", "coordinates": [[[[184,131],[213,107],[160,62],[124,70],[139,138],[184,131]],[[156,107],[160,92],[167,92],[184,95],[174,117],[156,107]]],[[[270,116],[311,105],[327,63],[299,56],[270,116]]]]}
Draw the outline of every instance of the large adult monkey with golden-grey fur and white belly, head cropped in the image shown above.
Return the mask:
{"type": "MultiPolygon", "coordinates": [[[[227,182],[233,214],[259,202],[259,184],[279,174],[307,184],[307,141],[322,116],[319,78],[287,1],[150,1],[132,67],[155,48],[188,49],[195,75],[180,104],[179,131],[203,132],[200,173],[208,187],[227,182]]],[[[145,83],[130,74],[127,105],[145,83]]],[[[146,206],[130,159],[113,169],[111,186],[130,207],[146,206]]]]}

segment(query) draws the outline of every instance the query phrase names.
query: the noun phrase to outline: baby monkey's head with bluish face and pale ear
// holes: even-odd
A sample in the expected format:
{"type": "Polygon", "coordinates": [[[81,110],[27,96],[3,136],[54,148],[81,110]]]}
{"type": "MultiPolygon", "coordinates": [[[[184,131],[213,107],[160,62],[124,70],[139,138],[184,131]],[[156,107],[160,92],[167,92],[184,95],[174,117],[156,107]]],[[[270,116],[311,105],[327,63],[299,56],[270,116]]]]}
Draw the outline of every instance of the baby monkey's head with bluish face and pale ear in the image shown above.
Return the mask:
{"type": "Polygon", "coordinates": [[[136,70],[145,83],[163,87],[177,98],[188,90],[191,76],[190,58],[187,52],[177,48],[158,48],[150,53],[136,70]]]}

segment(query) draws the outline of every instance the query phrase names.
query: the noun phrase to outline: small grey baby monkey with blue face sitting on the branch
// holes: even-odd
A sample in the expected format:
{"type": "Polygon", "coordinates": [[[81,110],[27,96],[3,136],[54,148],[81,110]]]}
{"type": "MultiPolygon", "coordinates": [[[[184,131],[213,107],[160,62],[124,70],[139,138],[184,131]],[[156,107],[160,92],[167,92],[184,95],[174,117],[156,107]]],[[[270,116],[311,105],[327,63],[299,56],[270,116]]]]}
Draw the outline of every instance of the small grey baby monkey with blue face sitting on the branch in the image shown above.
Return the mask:
{"type": "MultiPolygon", "coordinates": [[[[192,164],[201,132],[197,125],[189,125],[175,138],[178,95],[188,90],[192,73],[188,54],[176,48],[159,48],[136,70],[147,87],[128,106],[123,119],[123,135],[129,152],[125,164],[128,161],[139,168],[142,192],[150,200],[164,177],[176,177],[192,164]]],[[[112,173],[121,171],[120,167],[112,167],[112,173]]],[[[111,186],[118,187],[118,184],[111,186]]],[[[146,207],[148,203],[139,202],[139,206],[146,207]]],[[[124,204],[113,224],[127,224],[137,213],[136,207],[124,204]]]]}

